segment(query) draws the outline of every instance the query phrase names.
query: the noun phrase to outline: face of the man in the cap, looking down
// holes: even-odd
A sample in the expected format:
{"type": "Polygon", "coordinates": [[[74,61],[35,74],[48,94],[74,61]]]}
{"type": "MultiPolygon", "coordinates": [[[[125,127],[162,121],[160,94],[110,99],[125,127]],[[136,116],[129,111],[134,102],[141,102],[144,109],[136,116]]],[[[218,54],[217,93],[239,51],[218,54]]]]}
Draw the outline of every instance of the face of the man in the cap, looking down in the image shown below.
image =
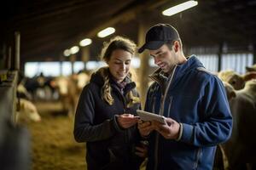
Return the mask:
{"type": "Polygon", "coordinates": [[[174,65],[178,64],[177,54],[174,52],[173,46],[170,50],[166,44],[155,50],[149,50],[149,54],[154,57],[154,64],[158,65],[162,71],[172,71],[174,65]]]}

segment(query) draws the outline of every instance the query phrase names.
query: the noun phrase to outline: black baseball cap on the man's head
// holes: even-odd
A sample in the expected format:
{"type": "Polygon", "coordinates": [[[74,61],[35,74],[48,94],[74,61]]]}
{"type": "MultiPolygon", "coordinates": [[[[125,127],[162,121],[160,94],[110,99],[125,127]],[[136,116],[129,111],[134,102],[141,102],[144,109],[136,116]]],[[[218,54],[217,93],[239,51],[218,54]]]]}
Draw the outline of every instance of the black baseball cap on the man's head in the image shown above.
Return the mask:
{"type": "Polygon", "coordinates": [[[138,49],[138,53],[143,53],[145,49],[158,49],[164,43],[178,40],[177,30],[169,24],[157,24],[149,28],[143,47],[138,49]]]}

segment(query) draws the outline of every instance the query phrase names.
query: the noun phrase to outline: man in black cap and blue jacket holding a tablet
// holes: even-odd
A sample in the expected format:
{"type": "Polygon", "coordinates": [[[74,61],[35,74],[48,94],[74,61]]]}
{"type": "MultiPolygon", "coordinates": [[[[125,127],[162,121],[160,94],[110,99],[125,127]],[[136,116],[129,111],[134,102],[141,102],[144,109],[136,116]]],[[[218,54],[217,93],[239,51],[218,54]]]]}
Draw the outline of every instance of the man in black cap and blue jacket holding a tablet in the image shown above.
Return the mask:
{"type": "Polygon", "coordinates": [[[166,116],[166,124],[138,122],[149,142],[147,170],[212,169],[216,144],[229,139],[232,128],[223,83],[195,55],[184,56],[173,26],[152,26],[138,52],[144,49],[160,67],[150,76],[145,111],[166,116]]]}

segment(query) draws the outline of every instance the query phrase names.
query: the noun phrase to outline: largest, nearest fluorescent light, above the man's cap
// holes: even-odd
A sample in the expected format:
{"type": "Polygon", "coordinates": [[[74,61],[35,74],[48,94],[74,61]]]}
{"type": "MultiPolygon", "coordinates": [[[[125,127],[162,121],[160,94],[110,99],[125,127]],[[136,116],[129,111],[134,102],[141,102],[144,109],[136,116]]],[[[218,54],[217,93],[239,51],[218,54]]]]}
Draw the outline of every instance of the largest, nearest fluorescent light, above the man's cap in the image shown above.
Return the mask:
{"type": "Polygon", "coordinates": [[[162,12],[163,15],[171,16],[173,14],[177,14],[179,12],[182,12],[183,10],[186,10],[188,8],[195,7],[198,4],[197,1],[187,1],[185,3],[178,4],[172,8],[167,8],[162,12]]]}

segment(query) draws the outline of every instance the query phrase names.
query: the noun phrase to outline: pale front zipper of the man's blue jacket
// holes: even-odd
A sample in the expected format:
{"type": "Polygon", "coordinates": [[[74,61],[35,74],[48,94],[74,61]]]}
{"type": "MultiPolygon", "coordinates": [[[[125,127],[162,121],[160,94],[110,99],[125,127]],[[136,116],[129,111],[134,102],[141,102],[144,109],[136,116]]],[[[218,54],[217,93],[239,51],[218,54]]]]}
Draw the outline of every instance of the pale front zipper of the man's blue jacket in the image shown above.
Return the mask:
{"type": "MultiPolygon", "coordinates": [[[[172,77],[170,79],[170,81],[168,82],[168,85],[166,87],[166,91],[165,91],[165,94],[164,95],[161,95],[161,99],[160,99],[160,116],[163,116],[164,115],[164,110],[165,110],[165,101],[166,101],[166,95],[167,95],[167,92],[168,92],[168,89],[170,88],[170,85],[172,83],[172,78],[173,78],[173,75],[176,71],[176,68],[177,68],[177,65],[175,65],[173,71],[172,71],[172,77]],[[163,102],[164,101],[164,102],[163,102]]],[[[172,105],[172,102],[171,104],[172,105]]],[[[171,107],[171,106],[170,106],[171,107]]],[[[158,145],[159,145],[159,133],[156,133],[155,135],[155,145],[154,145],[154,170],[157,170],[157,166],[158,166],[158,145]]]]}

